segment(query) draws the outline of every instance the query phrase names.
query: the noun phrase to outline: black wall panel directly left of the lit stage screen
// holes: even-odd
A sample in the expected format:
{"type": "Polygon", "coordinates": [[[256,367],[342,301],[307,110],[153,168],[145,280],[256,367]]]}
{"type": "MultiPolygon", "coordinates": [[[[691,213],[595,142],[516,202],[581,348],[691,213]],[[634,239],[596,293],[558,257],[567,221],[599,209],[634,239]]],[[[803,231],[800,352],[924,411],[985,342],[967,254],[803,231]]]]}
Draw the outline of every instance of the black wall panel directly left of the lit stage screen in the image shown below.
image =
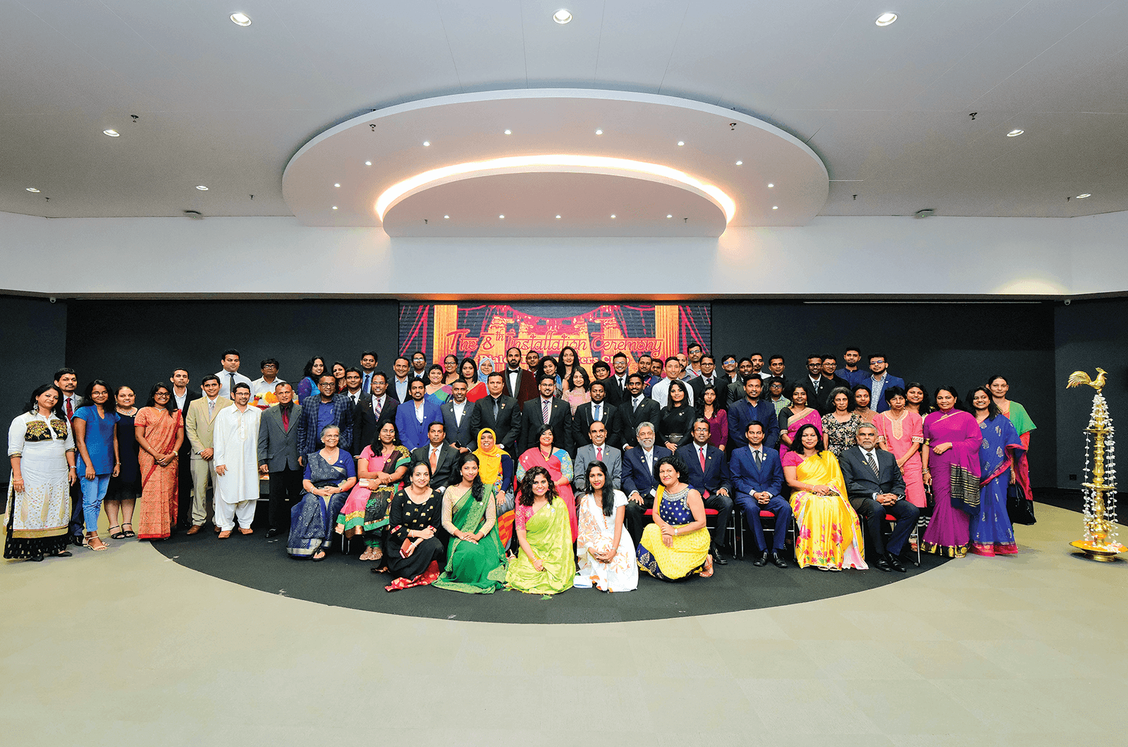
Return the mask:
{"type": "Polygon", "coordinates": [[[114,386],[129,384],[139,398],[179,367],[188,369],[199,389],[204,375],[221,368],[227,348],[239,350],[239,372],[252,380],[262,376],[264,358],[276,358],[279,376],[298,381],[312,355],[359,366],[365,349],[376,350],[380,368],[390,374],[398,314],[398,302],[387,300],[76,300],[70,302],[67,360],[80,387],[103,378],[114,386]]]}

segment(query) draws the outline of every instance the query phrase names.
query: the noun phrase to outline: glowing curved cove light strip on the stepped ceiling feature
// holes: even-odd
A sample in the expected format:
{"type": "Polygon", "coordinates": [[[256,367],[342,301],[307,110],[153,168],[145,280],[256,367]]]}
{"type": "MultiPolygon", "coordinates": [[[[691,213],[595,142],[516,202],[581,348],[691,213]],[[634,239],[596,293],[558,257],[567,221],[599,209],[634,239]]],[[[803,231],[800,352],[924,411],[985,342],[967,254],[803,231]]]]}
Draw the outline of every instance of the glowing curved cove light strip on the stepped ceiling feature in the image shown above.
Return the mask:
{"type": "Polygon", "coordinates": [[[455,177],[481,176],[487,172],[494,174],[567,172],[570,168],[591,169],[592,173],[609,174],[611,176],[622,176],[625,173],[626,175],[638,174],[684,184],[708,195],[724,211],[725,225],[732,220],[732,217],[737,212],[737,203],[733,202],[732,197],[712,184],[705,184],[685,172],[659,164],[646,164],[645,161],[611,158],[608,156],[509,156],[506,158],[492,158],[484,161],[443,166],[442,168],[434,168],[430,172],[416,174],[385,190],[376,201],[376,212],[382,221],[388,210],[403,197],[428,187],[437,186],[440,183],[457,181],[455,177]]]}

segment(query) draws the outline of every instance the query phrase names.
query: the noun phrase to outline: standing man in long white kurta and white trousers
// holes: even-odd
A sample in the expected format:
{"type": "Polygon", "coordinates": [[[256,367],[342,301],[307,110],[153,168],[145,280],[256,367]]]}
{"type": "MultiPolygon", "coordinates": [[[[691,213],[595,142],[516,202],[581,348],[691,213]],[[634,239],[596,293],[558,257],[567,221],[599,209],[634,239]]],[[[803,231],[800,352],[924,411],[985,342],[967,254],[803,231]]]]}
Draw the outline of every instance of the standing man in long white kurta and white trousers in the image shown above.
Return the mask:
{"type": "Polygon", "coordinates": [[[248,406],[250,387],[235,385],[235,406],[215,415],[212,447],[215,449],[215,524],[227,539],[239,522],[239,533],[252,534],[258,499],[258,419],[262,411],[248,406]]]}

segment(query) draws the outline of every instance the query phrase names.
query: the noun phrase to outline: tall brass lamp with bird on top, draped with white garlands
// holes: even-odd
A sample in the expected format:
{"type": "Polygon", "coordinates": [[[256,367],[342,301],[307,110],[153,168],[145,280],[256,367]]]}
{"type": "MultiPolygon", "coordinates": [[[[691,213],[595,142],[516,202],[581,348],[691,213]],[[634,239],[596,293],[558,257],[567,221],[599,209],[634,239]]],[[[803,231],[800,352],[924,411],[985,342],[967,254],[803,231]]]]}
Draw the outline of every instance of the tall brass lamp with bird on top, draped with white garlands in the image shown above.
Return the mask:
{"type": "Polygon", "coordinates": [[[1090,379],[1085,371],[1074,371],[1066,384],[1066,388],[1086,385],[1096,389],[1089,428],[1085,429],[1085,472],[1082,481],[1085,495],[1085,538],[1069,544],[1092,560],[1114,561],[1117,553],[1122,553],[1126,548],[1117,542],[1117,442],[1109,406],[1101,394],[1105,376],[1107,372],[1101,368],[1096,369],[1095,379],[1090,379]]]}

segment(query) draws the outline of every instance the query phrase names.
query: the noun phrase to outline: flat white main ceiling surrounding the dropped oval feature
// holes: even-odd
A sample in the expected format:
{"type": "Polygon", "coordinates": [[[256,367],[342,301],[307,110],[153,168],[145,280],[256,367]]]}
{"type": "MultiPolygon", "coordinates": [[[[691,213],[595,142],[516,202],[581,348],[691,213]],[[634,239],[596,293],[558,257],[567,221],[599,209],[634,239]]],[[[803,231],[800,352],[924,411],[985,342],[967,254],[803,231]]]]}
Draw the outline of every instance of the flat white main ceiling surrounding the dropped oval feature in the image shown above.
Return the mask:
{"type": "Polygon", "coordinates": [[[0,210],[37,216],[291,214],[285,164],[338,122],[555,87],[775,124],[822,214],[1128,209],[1123,1],[0,0],[0,210]]]}

